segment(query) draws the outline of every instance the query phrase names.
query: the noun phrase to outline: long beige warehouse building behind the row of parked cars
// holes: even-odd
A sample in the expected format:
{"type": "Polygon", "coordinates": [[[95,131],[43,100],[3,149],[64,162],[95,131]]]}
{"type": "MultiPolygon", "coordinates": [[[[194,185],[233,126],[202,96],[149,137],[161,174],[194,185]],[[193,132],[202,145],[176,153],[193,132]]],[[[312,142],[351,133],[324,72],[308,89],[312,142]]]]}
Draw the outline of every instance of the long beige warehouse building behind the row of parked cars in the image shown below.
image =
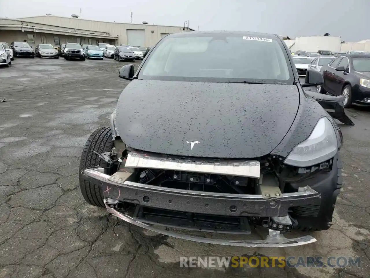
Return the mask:
{"type": "Polygon", "coordinates": [[[151,47],[166,34],[194,31],[188,27],[183,29],[179,26],[115,23],[52,15],[0,18],[0,42],[26,41],[32,47],[39,43],[58,46],[67,42],[151,47]]]}

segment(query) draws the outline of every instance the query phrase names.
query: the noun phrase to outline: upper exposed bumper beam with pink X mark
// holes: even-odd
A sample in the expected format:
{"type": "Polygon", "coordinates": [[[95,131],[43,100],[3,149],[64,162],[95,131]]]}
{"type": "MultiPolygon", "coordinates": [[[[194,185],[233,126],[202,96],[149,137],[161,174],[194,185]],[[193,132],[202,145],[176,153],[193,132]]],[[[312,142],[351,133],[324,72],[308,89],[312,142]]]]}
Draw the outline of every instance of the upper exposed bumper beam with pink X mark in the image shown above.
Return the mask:
{"type": "MultiPolygon", "coordinates": [[[[220,216],[286,216],[288,209],[313,203],[320,194],[309,186],[298,192],[283,193],[278,197],[259,194],[229,194],[173,189],[141,184],[106,175],[104,169],[95,167],[83,171],[85,179],[100,186],[102,195],[121,202],[220,216]]],[[[129,173],[123,173],[128,174],[129,173]]]]}

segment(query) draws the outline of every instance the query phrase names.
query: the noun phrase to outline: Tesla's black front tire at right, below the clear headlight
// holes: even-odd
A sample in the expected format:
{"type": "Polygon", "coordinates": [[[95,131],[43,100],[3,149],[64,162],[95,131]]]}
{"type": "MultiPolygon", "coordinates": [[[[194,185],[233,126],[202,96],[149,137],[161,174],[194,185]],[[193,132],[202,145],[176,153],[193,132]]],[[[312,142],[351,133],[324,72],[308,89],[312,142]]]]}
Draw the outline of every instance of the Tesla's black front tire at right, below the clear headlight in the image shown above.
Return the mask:
{"type": "Polygon", "coordinates": [[[334,177],[336,178],[333,178],[332,185],[327,185],[322,192],[319,192],[321,194],[320,204],[293,208],[292,217],[298,222],[295,229],[313,232],[330,228],[337,196],[342,188],[342,161],[339,155],[333,158],[332,171],[335,171],[334,177]]]}

